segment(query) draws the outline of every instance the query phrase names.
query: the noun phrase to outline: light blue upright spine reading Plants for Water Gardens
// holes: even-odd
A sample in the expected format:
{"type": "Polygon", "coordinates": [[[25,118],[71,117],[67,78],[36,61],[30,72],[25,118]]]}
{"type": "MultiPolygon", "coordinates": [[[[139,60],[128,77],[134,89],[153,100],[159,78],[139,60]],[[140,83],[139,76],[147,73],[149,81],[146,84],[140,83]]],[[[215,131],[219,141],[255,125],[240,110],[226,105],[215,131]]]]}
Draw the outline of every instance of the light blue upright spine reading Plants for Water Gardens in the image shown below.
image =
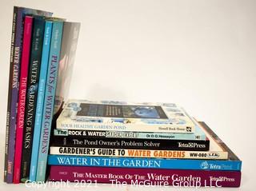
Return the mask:
{"type": "Polygon", "coordinates": [[[58,62],[62,44],[63,22],[54,21],[50,42],[50,55],[46,78],[46,94],[42,112],[42,129],[38,151],[36,181],[45,181],[46,163],[49,150],[50,130],[54,115],[54,97],[58,78],[58,62]]]}

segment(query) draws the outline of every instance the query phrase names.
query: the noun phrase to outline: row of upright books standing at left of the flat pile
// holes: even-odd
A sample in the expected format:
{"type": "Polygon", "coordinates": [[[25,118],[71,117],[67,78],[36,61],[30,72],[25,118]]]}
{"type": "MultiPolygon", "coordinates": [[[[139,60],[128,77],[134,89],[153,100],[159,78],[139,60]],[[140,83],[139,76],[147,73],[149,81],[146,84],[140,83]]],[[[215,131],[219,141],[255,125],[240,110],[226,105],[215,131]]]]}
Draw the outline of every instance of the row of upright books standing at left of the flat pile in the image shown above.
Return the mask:
{"type": "Polygon", "coordinates": [[[6,118],[7,183],[45,181],[51,125],[69,90],[80,25],[51,15],[14,7],[6,118]]]}

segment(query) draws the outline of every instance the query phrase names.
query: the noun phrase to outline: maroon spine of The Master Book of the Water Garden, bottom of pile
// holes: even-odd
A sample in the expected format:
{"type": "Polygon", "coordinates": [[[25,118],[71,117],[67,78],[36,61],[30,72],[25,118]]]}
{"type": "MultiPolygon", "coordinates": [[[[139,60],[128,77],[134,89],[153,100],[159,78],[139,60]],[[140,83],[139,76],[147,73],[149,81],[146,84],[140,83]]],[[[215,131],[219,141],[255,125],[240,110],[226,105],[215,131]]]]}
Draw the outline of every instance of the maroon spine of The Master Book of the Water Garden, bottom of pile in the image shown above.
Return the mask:
{"type": "Polygon", "coordinates": [[[50,167],[51,181],[110,183],[112,185],[174,185],[174,187],[239,187],[240,171],[184,169],[126,169],[80,166],[50,167]]]}

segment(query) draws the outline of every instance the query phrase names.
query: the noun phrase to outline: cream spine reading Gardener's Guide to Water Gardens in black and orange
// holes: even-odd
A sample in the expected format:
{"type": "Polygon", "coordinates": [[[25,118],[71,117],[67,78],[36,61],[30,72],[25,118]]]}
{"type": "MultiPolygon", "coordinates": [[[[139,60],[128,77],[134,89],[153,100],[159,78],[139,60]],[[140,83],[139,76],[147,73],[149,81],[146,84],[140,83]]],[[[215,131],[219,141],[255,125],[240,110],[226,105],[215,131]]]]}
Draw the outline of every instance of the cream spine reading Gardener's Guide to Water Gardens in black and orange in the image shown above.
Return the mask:
{"type": "Polygon", "coordinates": [[[184,158],[184,159],[227,159],[224,151],[184,151],[184,150],[148,150],[148,149],[99,149],[85,147],[51,146],[50,154],[75,155],[86,157],[152,157],[152,158],[184,158]]]}

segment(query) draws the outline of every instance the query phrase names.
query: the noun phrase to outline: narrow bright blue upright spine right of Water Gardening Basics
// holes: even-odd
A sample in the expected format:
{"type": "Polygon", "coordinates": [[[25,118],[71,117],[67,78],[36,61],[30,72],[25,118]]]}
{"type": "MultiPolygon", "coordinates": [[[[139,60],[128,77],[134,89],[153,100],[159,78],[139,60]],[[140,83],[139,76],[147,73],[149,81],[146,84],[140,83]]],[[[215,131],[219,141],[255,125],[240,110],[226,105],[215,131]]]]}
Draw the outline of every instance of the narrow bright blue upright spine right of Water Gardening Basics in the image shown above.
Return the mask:
{"type": "Polygon", "coordinates": [[[38,166],[38,149],[40,141],[40,132],[42,125],[42,109],[46,91],[46,77],[47,77],[47,68],[50,54],[50,38],[52,31],[52,22],[47,21],[45,26],[45,34],[43,39],[42,46],[42,62],[40,69],[39,77],[39,87],[38,87],[38,99],[34,123],[34,137],[32,145],[32,156],[30,164],[30,181],[36,180],[37,166],[38,166]]]}

